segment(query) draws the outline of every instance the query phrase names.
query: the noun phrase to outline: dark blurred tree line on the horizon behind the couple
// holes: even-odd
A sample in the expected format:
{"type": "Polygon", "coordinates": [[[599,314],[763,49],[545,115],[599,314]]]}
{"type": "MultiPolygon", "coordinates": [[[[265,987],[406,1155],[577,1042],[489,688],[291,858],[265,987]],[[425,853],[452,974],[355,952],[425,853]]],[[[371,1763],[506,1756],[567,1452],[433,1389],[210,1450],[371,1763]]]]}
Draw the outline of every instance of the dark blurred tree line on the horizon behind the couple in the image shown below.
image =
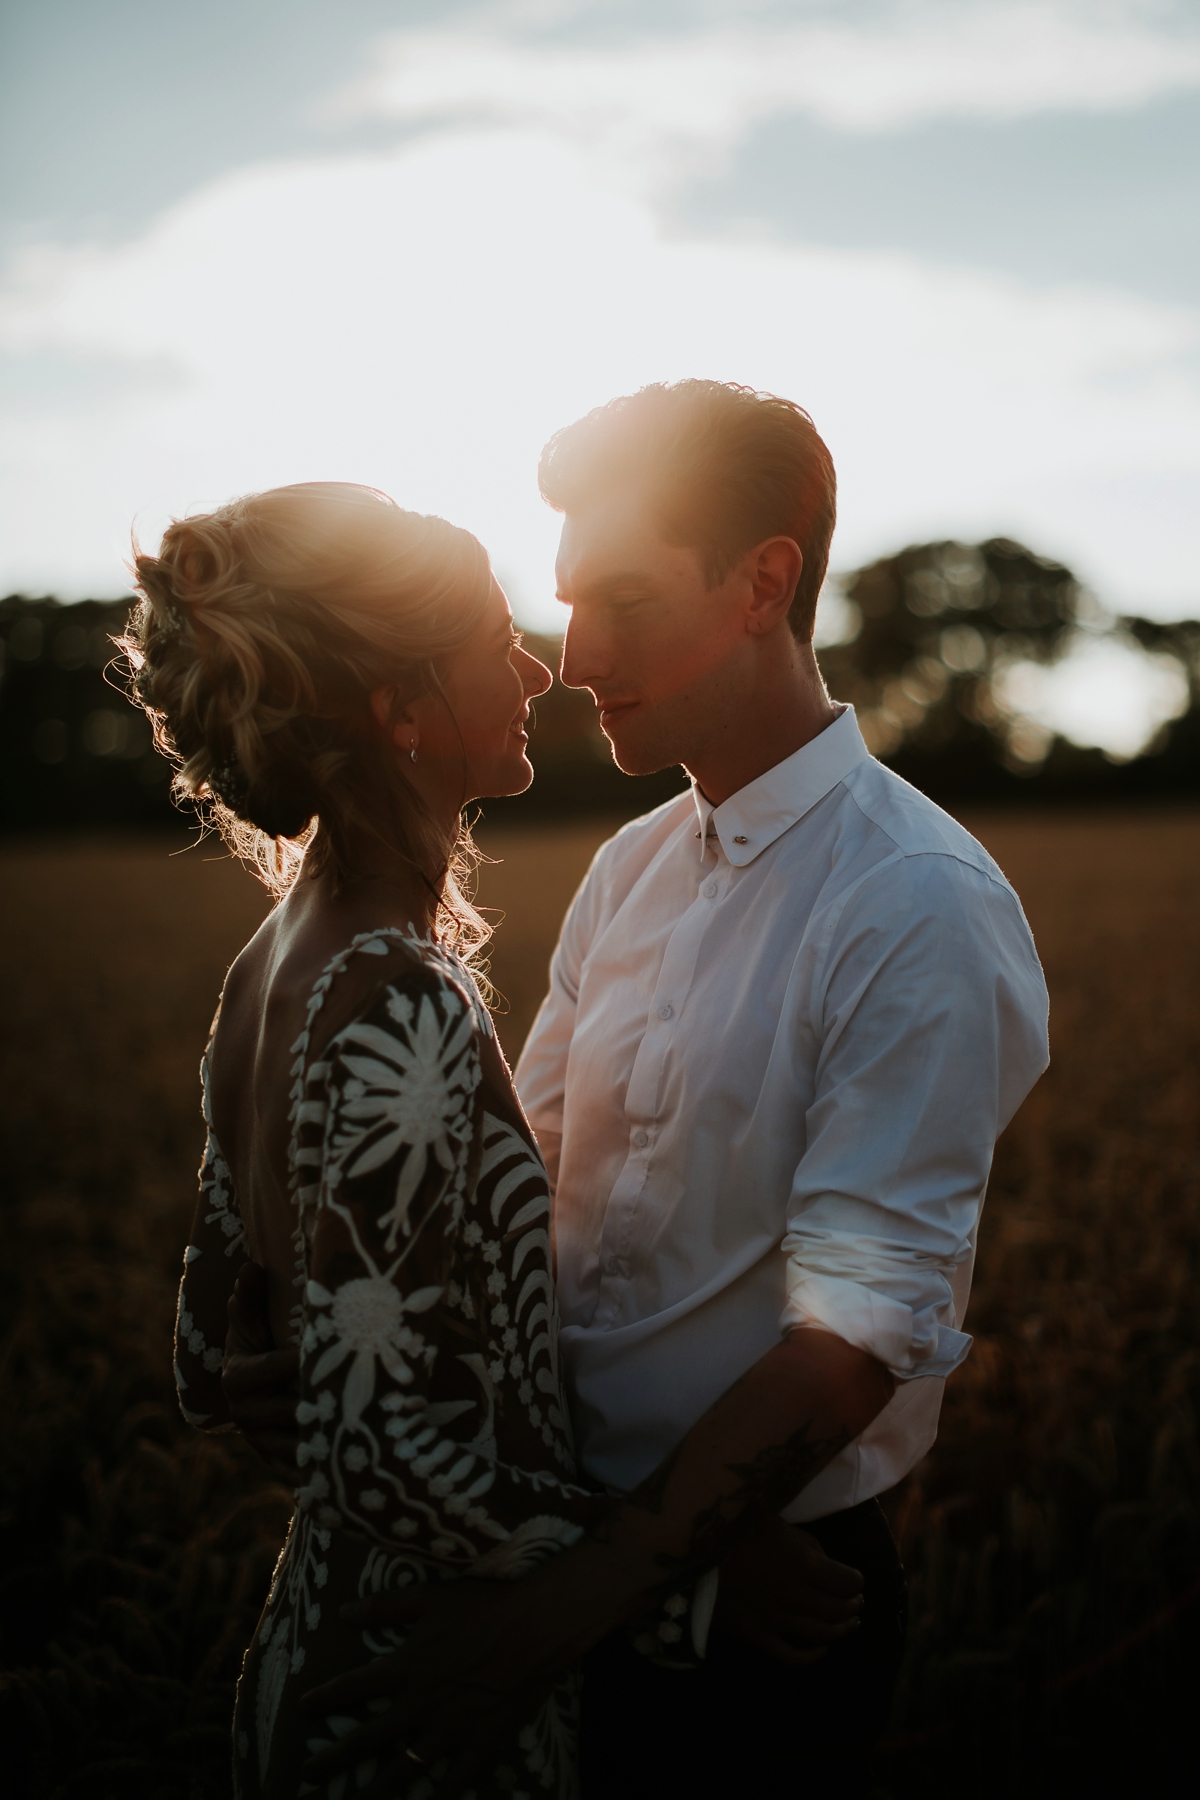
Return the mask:
{"type": "MultiPolygon", "coordinates": [[[[1016,709],[1009,677],[1051,666],[1096,630],[1074,574],[1009,538],[919,544],[838,583],[846,630],[819,652],[869,747],[936,801],[1081,803],[1200,797],[1200,621],[1112,621],[1108,635],[1168,657],[1187,706],[1142,754],[1114,761],[1016,709]]],[[[113,635],[130,599],[0,601],[0,832],[178,826],[169,767],[122,691],[113,635]]],[[[558,641],[527,634],[558,664],[558,641]]],[[[684,787],[682,770],[624,776],[587,693],[536,702],[529,794],[488,819],[633,817],[684,787]]]]}

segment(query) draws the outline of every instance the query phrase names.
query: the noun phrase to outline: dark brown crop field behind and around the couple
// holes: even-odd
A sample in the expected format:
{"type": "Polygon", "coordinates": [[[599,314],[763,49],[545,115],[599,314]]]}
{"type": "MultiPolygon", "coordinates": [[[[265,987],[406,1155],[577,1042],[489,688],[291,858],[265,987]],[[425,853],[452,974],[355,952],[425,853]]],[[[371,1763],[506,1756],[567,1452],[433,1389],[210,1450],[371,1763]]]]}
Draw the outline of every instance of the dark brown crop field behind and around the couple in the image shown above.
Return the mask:
{"type": "MultiPolygon", "coordinates": [[[[1200,815],[966,823],[1025,902],[1054,1064],[999,1148],[939,1444],[889,1498],[912,1643],[880,1793],[1191,1793],[1200,815]]],[[[484,835],[509,1055],[601,835],[484,835]]],[[[237,1438],[173,1406],[196,1060],[264,898],[214,848],[171,848],[0,853],[11,1793],[228,1793],[232,1681],[288,1514],[237,1438]]]]}

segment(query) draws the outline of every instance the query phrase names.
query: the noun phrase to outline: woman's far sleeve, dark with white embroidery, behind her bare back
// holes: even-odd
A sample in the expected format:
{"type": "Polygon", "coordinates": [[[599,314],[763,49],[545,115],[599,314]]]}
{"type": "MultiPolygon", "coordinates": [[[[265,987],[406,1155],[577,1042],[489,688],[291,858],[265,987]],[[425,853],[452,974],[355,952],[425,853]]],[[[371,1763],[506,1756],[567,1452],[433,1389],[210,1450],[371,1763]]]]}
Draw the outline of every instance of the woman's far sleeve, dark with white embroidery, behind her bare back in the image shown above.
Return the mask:
{"type": "Polygon", "coordinates": [[[207,1136],[200,1165],[200,1199],[191,1240],[184,1251],[184,1280],[175,1319],[175,1386],[180,1411],[189,1426],[212,1431],[228,1424],[228,1408],[221,1393],[225,1309],[237,1271],[250,1258],[250,1251],[228,1165],[212,1130],[207,1055],[200,1078],[207,1136]]]}

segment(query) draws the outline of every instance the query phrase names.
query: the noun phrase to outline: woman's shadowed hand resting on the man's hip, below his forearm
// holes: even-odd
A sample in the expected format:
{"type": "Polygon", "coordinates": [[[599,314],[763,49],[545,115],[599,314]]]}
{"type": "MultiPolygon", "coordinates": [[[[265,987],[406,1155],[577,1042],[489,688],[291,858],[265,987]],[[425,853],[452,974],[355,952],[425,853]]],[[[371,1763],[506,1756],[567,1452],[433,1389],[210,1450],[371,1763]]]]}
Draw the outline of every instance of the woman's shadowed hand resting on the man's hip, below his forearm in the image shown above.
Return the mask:
{"type": "Polygon", "coordinates": [[[858,1629],[862,1575],[811,1532],[766,1519],[721,1561],[716,1624],[781,1663],[815,1663],[858,1629]]]}

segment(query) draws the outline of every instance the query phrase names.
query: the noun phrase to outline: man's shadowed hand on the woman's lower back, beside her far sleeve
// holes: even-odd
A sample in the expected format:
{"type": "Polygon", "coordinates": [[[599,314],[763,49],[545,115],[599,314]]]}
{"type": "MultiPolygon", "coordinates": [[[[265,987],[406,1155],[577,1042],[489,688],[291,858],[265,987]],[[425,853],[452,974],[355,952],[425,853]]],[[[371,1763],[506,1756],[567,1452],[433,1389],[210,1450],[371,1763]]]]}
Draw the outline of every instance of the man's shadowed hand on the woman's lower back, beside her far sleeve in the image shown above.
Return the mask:
{"type": "Polygon", "coordinates": [[[295,1462],[299,1375],[299,1350],[277,1350],[272,1337],[266,1271],[257,1262],[246,1262],[237,1271],[228,1301],[221,1391],[243,1438],[288,1487],[300,1480],[295,1462]]]}

